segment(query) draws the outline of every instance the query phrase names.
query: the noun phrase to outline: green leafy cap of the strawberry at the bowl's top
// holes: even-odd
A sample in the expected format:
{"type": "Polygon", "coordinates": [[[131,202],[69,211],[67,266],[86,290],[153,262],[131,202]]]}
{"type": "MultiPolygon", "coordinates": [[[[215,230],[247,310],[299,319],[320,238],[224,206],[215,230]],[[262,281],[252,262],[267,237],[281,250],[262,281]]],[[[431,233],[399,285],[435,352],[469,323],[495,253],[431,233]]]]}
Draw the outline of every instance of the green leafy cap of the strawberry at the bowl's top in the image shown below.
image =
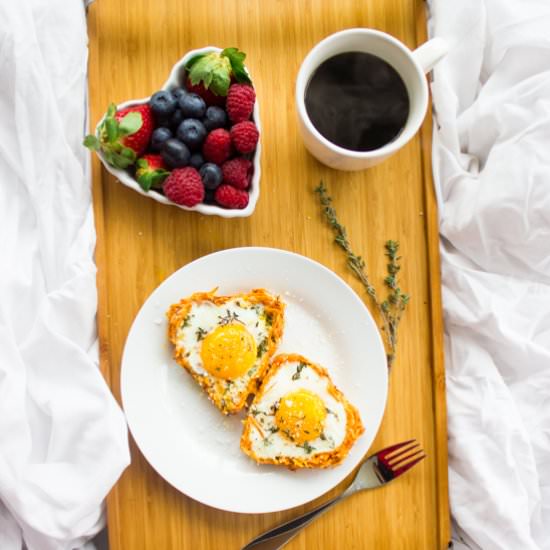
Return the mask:
{"type": "MultiPolygon", "coordinates": [[[[204,92],[225,99],[232,79],[239,83],[252,84],[244,67],[246,54],[237,48],[225,48],[221,52],[210,52],[192,57],[185,66],[188,72],[188,85],[193,92],[202,96],[202,90],[194,88],[202,85],[204,92]]],[[[206,97],[203,99],[208,103],[206,97]]],[[[210,96],[212,99],[212,95],[210,96]]],[[[211,103],[216,105],[216,103],[211,103]]]]}

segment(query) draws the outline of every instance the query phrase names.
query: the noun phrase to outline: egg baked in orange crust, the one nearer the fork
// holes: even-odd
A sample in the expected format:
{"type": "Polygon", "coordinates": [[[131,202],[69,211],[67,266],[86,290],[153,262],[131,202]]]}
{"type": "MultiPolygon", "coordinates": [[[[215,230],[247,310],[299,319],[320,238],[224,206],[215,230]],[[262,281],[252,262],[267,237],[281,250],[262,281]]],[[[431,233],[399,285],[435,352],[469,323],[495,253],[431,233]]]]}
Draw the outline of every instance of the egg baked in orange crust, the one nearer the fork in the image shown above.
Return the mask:
{"type": "Polygon", "coordinates": [[[357,411],[328,374],[299,355],[279,356],[247,417],[241,448],[258,462],[326,467],[363,431],[357,411]]]}

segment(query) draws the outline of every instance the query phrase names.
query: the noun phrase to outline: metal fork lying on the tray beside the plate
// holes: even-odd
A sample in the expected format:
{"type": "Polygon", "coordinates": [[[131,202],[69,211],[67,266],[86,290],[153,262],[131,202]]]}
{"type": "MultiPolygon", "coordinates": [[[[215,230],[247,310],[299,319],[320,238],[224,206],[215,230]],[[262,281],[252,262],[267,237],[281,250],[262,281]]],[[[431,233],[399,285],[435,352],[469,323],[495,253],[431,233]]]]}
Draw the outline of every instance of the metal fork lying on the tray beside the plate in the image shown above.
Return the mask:
{"type": "Polygon", "coordinates": [[[277,550],[282,548],[303,527],[317,516],[326,512],[331,506],[364,489],[382,487],[410,470],[426,455],[415,439],[403,441],[386,447],[369,456],[362,463],[349,487],[338,496],[321,504],[317,508],[270,529],[251,540],[241,550],[277,550]]]}

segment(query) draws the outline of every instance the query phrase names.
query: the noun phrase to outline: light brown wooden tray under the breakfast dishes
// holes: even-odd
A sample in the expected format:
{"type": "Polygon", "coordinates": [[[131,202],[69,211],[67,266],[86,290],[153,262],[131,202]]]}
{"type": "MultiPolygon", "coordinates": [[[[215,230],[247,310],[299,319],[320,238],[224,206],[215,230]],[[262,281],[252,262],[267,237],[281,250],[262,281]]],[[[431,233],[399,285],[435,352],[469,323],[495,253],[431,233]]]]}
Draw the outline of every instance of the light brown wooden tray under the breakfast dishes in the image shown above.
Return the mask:
{"type": "MultiPolygon", "coordinates": [[[[302,59],[335,31],[373,27],[411,48],[425,41],[424,3],[101,0],[92,4],[88,20],[91,125],[109,102],[150,95],[186,51],[217,45],[238,46],[248,53],[263,126],[261,197],[254,215],[245,219],[206,217],[157,204],[117,183],[94,157],[101,366],[117,399],[121,353],[134,316],[161,281],[195,258],[235,246],[284,248],[325,264],[365,297],[320,215],[312,190],[323,179],[354,248],[378,283],[385,272],[384,242],[392,238],[401,243],[402,287],[412,300],[372,450],[415,437],[428,459],[387,488],[343,502],[288,548],[447,548],[447,435],[431,117],[414,140],[383,164],[360,173],[337,172],[305,151],[293,96],[302,59]]],[[[173,489],[133,441],[131,449],[132,465],[108,498],[112,550],[238,549],[330,496],[275,514],[221,512],[173,489]]]]}

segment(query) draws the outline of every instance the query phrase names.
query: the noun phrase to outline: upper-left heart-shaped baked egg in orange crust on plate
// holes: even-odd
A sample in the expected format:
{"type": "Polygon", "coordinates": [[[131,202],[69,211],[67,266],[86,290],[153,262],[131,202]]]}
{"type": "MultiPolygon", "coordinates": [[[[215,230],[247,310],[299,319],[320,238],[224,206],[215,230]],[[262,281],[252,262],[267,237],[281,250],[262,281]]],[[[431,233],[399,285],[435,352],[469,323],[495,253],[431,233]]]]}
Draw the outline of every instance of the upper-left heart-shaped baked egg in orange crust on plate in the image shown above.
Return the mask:
{"type": "Polygon", "coordinates": [[[285,305],[263,288],[217,296],[196,292],[168,309],[174,359],[224,414],[245,407],[279,344],[285,305]]]}

